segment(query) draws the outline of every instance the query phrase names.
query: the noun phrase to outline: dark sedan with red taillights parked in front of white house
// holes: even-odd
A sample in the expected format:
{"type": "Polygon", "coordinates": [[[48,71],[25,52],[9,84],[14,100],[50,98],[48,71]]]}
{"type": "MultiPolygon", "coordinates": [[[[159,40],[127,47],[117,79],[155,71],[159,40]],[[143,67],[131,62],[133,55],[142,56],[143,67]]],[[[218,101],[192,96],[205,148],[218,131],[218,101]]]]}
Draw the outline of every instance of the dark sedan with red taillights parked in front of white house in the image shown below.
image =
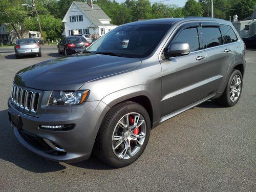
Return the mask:
{"type": "Polygon", "coordinates": [[[81,36],[68,36],[60,40],[57,48],[59,54],[70,55],[79,53],[89,46],[90,42],[81,36]]]}

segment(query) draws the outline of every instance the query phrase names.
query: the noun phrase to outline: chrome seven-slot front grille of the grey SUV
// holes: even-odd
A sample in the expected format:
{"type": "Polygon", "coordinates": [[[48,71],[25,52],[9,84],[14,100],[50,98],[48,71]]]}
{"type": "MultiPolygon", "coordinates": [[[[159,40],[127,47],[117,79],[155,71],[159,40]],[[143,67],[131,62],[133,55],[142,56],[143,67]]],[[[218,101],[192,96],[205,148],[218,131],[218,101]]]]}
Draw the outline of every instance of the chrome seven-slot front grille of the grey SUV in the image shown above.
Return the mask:
{"type": "Polygon", "coordinates": [[[12,84],[11,102],[14,106],[26,112],[36,113],[40,93],[12,84]]]}

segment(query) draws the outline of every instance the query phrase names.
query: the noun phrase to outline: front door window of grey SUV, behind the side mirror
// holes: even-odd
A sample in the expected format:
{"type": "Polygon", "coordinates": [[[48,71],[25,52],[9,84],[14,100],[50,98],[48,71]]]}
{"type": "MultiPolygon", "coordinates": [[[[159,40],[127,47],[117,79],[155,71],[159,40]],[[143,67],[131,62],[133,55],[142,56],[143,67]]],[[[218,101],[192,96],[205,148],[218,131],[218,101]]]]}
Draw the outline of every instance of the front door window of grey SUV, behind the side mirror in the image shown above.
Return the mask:
{"type": "Polygon", "coordinates": [[[197,28],[184,29],[173,42],[187,42],[190,52],[199,50],[199,39],[197,28]]]}

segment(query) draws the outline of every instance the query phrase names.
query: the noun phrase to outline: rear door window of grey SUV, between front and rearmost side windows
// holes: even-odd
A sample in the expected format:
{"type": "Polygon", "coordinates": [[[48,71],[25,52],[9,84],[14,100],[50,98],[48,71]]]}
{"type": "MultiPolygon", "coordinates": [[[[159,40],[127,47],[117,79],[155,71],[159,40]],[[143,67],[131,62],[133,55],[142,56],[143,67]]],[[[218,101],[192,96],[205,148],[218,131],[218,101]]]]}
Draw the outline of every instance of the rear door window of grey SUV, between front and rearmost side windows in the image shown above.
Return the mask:
{"type": "Polygon", "coordinates": [[[202,27],[203,48],[222,45],[221,32],[218,27],[202,27]]]}

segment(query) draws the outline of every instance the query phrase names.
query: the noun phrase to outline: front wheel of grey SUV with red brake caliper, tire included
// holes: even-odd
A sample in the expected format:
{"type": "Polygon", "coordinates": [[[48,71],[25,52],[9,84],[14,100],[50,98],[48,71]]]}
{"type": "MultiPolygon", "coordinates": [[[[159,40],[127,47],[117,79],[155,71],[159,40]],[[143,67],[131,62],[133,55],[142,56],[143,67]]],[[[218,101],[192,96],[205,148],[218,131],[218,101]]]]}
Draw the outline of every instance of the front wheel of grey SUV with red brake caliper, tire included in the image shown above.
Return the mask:
{"type": "Polygon", "coordinates": [[[131,101],[120,103],[104,117],[94,153],[113,167],[130,165],[145,150],[150,131],[150,117],[140,104],[131,101]]]}

